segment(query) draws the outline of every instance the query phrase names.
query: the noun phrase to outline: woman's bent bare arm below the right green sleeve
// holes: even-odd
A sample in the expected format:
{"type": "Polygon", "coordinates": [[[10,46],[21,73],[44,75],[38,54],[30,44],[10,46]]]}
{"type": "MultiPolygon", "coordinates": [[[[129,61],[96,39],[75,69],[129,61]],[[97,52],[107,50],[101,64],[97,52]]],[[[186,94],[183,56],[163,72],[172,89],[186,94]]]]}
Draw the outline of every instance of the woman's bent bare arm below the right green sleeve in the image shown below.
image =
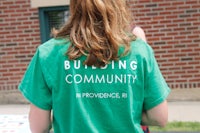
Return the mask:
{"type": "Polygon", "coordinates": [[[149,126],[166,126],[168,121],[167,101],[162,102],[158,106],[143,112],[142,124],[149,126]]]}

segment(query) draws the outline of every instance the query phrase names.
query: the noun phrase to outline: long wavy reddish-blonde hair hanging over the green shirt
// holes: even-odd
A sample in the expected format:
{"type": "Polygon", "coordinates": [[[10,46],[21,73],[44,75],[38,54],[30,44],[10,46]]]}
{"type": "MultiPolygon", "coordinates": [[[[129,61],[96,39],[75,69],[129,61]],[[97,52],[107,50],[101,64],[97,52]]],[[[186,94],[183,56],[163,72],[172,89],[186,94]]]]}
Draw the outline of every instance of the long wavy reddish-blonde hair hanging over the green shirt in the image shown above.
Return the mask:
{"type": "Polygon", "coordinates": [[[101,67],[120,58],[120,45],[129,51],[130,18],[125,0],[70,0],[69,20],[55,36],[70,39],[69,59],[86,55],[86,65],[101,67]]]}

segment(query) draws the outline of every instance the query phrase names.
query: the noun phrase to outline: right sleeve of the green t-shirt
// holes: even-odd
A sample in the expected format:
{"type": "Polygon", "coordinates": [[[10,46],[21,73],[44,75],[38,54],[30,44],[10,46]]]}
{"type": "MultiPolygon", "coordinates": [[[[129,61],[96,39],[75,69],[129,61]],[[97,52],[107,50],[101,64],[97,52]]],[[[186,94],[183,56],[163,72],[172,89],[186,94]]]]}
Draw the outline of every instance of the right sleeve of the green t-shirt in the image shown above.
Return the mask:
{"type": "Polygon", "coordinates": [[[146,61],[146,71],[145,71],[145,91],[144,91],[144,109],[149,110],[158,104],[166,100],[170,93],[170,88],[168,87],[161,71],[159,69],[158,63],[155,59],[152,48],[150,47],[150,52],[148,55],[148,61],[146,61]]]}

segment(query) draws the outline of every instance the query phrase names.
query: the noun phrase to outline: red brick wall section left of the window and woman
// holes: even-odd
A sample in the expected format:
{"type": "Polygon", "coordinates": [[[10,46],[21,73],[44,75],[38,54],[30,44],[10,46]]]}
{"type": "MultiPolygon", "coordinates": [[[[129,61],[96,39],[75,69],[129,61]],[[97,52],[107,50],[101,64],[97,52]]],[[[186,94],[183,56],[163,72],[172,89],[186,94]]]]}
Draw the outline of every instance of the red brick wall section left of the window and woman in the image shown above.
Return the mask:
{"type": "Polygon", "coordinates": [[[37,9],[29,0],[0,0],[0,90],[17,88],[38,44],[37,9]]]}

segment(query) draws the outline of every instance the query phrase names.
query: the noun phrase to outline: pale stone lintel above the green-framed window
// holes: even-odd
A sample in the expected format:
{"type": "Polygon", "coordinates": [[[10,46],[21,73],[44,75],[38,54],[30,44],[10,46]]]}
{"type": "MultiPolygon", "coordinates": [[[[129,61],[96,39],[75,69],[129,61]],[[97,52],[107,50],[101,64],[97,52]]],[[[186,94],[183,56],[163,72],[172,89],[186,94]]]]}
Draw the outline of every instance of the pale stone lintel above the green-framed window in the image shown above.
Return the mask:
{"type": "Polygon", "coordinates": [[[31,7],[66,6],[70,0],[31,0],[31,7]]]}

